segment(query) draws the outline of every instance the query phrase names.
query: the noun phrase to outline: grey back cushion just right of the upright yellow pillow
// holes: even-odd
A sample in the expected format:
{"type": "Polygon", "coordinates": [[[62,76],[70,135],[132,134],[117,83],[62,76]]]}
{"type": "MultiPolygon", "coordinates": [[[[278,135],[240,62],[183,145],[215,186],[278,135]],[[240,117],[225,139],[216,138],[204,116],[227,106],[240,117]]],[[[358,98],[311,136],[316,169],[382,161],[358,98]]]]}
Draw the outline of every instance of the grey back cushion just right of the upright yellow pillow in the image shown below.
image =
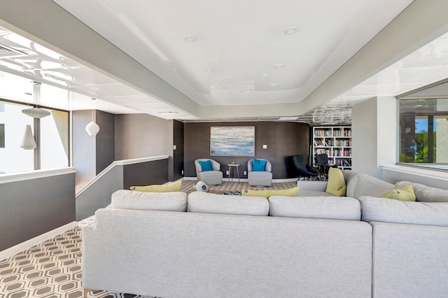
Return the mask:
{"type": "Polygon", "coordinates": [[[353,197],[359,199],[363,196],[381,197],[389,190],[393,190],[395,185],[379,180],[365,173],[358,173],[358,180],[353,192],[353,197]]]}

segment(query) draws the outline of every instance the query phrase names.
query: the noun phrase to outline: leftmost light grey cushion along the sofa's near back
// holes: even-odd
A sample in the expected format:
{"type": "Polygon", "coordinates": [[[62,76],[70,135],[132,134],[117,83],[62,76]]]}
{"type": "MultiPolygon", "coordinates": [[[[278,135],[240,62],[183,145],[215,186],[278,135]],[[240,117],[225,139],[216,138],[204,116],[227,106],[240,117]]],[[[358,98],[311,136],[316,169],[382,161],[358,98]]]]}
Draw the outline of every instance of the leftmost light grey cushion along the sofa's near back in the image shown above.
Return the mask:
{"type": "Polygon", "coordinates": [[[187,194],[185,192],[134,192],[117,190],[112,194],[112,208],[187,211],[187,194]]]}

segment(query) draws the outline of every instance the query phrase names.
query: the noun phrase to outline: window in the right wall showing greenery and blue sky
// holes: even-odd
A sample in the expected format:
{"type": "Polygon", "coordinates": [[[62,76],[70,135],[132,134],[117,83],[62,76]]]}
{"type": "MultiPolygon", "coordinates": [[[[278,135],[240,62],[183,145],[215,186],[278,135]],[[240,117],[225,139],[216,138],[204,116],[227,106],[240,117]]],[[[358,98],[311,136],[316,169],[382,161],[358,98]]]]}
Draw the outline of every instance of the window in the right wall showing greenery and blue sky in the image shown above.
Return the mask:
{"type": "Polygon", "coordinates": [[[400,99],[400,163],[448,169],[448,99],[400,99]]]}

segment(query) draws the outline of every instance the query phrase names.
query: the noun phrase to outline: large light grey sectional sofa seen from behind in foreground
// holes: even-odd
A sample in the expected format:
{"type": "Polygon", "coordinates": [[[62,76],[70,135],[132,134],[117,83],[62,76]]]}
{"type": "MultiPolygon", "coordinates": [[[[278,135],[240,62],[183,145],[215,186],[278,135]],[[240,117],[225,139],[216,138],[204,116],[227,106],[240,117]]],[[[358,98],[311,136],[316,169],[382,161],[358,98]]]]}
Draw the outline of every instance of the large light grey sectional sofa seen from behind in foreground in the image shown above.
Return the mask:
{"type": "Polygon", "coordinates": [[[119,190],[83,227],[83,287],[165,298],[445,297],[448,203],[372,194],[119,190]]]}

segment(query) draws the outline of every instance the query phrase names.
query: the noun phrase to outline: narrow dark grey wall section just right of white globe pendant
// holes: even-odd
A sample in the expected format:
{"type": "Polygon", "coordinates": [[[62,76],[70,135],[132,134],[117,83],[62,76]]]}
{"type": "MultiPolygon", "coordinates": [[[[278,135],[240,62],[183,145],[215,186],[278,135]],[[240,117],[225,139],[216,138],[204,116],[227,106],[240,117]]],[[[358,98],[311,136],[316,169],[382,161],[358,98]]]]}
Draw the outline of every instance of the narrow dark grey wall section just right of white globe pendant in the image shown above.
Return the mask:
{"type": "Polygon", "coordinates": [[[96,174],[106,169],[115,160],[115,115],[96,111],[99,133],[96,136],[96,174]]]}

